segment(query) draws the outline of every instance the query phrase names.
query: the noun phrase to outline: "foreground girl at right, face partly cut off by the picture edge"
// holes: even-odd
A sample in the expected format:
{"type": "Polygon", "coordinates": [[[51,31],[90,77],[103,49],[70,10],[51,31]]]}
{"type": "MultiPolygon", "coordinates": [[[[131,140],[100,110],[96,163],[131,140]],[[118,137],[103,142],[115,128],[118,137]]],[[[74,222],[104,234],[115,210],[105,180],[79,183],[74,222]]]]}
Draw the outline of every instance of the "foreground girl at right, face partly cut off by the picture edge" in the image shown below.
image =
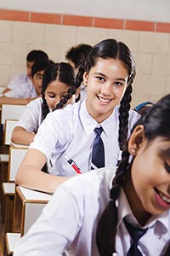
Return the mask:
{"type": "Polygon", "coordinates": [[[170,255],[169,126],[170,95],[139,119],[119,166],[73,177],[56,189],[14,256],[61,256],[65,250],[74,256],[170,255]],[[139,241],[129,235],[129,223],[140,229],[139,241]],[[136,254],[128,254],[133,248],[136,254]]]}

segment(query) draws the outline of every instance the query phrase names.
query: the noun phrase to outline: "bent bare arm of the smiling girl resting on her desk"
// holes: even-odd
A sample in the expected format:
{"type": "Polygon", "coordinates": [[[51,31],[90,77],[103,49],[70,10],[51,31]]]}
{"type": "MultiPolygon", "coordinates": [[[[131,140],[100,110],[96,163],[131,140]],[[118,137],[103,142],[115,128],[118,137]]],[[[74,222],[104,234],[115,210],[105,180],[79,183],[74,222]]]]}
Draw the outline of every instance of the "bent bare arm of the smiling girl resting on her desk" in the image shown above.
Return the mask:
{"type": "Polygon", "coordinates": [[[47,158],[41,151],[29,148],[17,172],[16,183],[29,189],[54,193],[59,184],[69,177],[59,177],[42,172],[46,161],[47,158]]]}

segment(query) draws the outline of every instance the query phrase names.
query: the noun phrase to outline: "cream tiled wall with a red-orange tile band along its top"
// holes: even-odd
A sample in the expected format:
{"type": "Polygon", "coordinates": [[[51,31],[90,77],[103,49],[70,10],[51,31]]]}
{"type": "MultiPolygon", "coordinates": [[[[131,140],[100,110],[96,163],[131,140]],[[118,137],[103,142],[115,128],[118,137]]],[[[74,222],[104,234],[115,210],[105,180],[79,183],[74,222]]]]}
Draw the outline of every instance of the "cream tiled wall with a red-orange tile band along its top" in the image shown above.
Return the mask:
{"type": "Polygon", "coordinates": [[[0,10],[0,84],[26,71],[26,54],[43,49],[53,61],[79,43],[116,38],[129,46],[137,64],[133,106],[170,93],[170,24],[0,10]]]}

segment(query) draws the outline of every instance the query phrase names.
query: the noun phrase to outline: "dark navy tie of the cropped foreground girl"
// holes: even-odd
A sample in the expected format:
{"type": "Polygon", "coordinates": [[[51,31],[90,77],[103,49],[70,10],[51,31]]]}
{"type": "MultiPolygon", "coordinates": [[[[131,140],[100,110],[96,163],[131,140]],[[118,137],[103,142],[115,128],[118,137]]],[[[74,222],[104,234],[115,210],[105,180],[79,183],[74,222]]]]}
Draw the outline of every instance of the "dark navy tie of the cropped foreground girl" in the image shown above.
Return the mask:
{"type": "Polygon", "coordinates": [[[132,238],[132,245],[127,252],[127,256],[142,256],[138,248],[139,239],[144,236],[148,229],[140,229],[138,227],[134,227],[133,224],[127,222],[126,218],[123,218],[124,224],[126,225],[127,231],[132,238]]]}

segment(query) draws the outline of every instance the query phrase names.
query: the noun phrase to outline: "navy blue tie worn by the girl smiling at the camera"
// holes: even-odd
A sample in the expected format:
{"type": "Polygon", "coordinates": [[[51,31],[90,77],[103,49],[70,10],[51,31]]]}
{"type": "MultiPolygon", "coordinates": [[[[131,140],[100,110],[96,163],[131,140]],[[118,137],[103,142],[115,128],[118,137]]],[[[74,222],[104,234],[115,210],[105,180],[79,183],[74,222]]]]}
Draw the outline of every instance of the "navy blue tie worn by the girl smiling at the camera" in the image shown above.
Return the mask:
{"type": "Polygon", "coordinates": [[[103,128],[95,128],[96,137],[94,138],[94,146],[92,149],[92,166],[91,169],[101,168],[105,166],[105,148],[100,137],[103,128]]]}

